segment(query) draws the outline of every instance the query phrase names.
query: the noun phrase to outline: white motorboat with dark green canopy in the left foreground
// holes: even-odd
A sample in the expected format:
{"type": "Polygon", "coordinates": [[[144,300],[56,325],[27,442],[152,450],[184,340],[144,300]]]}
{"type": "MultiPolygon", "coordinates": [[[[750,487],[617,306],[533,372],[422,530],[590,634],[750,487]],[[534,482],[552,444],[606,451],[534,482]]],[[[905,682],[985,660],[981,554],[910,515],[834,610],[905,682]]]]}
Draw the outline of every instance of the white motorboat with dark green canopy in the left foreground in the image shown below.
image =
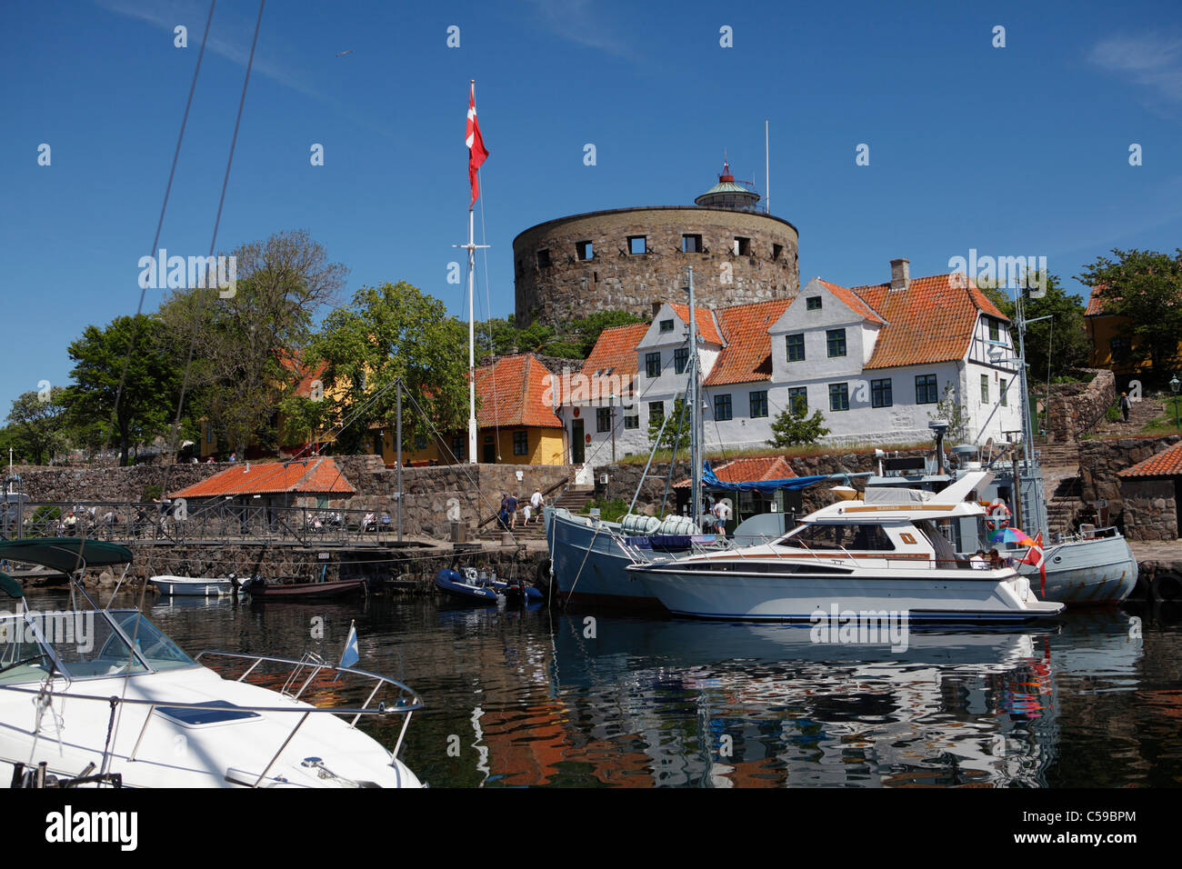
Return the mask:
{"type": "MultiPolygon", "coordinates": [[[[131,552],[74,538],[31,539],[0,541],[0,557],[77,579],[87,566],[129,563],[131,552]]],[[[0,614],[0,784],[420,786],[397,754],[422,703],[392,679],[314,656],[190,657],[138,610],[93,605],[79,582],[73,594],[90,609],[31,611],[20,584],[2,575],[0,591],[17,607],[0,614]],[[233,673],[223,677],[204,666],[210,659],[233,673]],[[369,683],[366,701],[309,702],[318,682],[335,676],[369,683]],[[388,696],[375,705],[383,689],[388,696]],[[403,716],[392,751],[357,728],[370,715],[403,716]]]]}

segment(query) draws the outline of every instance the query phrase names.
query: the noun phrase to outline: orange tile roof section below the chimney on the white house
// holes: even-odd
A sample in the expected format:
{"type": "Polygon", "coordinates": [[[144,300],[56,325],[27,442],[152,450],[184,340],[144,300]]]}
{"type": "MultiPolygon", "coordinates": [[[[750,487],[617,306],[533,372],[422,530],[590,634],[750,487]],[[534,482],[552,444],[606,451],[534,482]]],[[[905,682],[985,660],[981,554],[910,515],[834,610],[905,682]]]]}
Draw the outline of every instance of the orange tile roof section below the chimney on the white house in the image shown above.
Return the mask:
{"type": "Polygon", "coordinates": [[[1009,322],[963,274],[915,278],[907,290],[894,292],[890,284],[856,286],[853,292],[886,320],[868,369],[963,359],[979,314],[1009,322]]]}

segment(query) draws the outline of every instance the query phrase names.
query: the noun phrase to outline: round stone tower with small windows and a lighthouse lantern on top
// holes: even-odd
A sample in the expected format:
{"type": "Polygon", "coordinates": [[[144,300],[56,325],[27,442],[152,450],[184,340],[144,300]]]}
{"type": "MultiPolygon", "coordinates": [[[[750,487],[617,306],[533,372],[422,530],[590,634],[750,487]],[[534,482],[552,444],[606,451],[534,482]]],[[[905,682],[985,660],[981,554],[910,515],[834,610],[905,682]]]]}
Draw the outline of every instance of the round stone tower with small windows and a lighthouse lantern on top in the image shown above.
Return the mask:
{"type": "Polygon", "coordinates": [[[517,324],[608,310],[651,316],[662,301],[682,300],[687,266],[706,307],[795,296],[797,228],[758,210],[759,200],[723,164],[693,206],[615,208],[530,227],[513,240],[517,324]]]}

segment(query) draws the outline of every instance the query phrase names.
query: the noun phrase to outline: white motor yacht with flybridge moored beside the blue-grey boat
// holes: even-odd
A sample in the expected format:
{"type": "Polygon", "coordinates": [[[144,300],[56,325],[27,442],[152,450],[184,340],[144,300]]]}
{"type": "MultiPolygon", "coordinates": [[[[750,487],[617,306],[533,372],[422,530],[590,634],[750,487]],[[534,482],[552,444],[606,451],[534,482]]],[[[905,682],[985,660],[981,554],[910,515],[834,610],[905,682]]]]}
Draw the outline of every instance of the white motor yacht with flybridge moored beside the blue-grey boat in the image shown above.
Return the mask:
{"type": "Polygon", "coordinates": [[[1014,566],[957,557],[941,524],[983,517],[966,497],[987,472],[939,495],[877,488],[806,517],[768,544],[628,568],[675,615],[812,621],[821,614],[894,612],[909,622],[1027,622],[1064,605],[1039,601],[1014,566]]]}

